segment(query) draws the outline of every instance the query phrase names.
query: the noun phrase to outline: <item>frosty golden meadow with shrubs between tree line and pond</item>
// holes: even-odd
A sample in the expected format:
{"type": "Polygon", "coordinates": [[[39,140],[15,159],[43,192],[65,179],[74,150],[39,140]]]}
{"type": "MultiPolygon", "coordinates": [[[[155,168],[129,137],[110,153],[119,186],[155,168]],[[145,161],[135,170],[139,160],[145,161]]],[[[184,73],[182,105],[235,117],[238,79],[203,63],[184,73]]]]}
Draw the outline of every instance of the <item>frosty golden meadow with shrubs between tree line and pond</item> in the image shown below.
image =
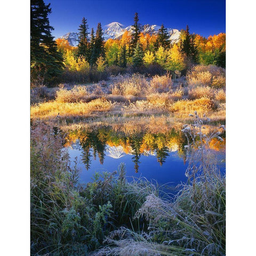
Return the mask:
{"type": "Polygon", "coordinates": [[[191,111],[225,120],[225,69],[195,66],[186,77],[172,79],[167,73],[111,76],[93,84],[60,84],[31,89],[31,118],[82,120],[98,117],[165,115],[187,119],[191,111]]]}

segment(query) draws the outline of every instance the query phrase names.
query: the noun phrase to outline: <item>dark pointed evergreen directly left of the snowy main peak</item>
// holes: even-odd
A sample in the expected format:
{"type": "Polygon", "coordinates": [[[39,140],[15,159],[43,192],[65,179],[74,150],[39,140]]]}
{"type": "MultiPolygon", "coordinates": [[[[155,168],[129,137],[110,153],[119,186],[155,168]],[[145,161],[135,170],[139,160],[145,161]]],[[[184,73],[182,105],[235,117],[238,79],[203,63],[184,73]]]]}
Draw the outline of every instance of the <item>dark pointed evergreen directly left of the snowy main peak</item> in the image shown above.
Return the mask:
{"type": "Polygon", "coordinates": [[[104,49],[104,38],[103,38],[101,23],[98,23],[96,36],[94,39],[94,45],[92,49],[91,64],[93,65],[100,56],[105,58],[105,49],[104,49]]]}

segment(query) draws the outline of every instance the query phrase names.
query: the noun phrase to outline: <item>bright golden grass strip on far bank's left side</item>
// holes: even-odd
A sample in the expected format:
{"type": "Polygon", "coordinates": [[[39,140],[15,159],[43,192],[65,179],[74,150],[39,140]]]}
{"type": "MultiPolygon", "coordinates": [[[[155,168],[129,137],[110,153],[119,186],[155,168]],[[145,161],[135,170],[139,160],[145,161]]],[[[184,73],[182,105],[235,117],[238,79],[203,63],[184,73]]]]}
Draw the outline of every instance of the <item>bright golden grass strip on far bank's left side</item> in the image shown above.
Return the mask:
{"type": "Polygon", "coordinates": [[[89,116],[93,112],[110,111],[113,109],[114,103],[104,98],[95,99],[88,103],[60,103],[57,101],[49,101],[39,103],[30,109],[31,118],[55,117],[59,116],[89,116]]]}

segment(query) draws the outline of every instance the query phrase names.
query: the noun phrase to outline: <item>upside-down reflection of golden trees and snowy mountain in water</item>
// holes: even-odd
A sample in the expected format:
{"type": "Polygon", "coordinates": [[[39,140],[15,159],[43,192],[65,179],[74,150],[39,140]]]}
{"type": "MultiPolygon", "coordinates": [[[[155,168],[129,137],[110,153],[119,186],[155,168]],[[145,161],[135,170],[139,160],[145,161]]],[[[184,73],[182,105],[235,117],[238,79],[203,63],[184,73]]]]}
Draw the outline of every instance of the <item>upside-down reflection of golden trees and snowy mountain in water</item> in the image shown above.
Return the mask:
{"type": "MultiPolygon", "coordinates": [[[[225,134],[223,142],[213,139],[210,147],[216,151],[225,151],[225,134]]],[[[66,137],[66,147],[82,151],[81,160],[86,170],[89,170],[93,159],[99,159],[103,165],[105,156],[118,159],[125,155],[132,156],[135,173],[140,169],[141,156],[154,156],[162,166],[171,152],[177,152],[185,162],[184,146],[186,137],[180,129],[170,129],[167,132],[154,133],[148,131],[125,132],[114,130],[110,126],[78,129],[69,131],[66,137]]]]}

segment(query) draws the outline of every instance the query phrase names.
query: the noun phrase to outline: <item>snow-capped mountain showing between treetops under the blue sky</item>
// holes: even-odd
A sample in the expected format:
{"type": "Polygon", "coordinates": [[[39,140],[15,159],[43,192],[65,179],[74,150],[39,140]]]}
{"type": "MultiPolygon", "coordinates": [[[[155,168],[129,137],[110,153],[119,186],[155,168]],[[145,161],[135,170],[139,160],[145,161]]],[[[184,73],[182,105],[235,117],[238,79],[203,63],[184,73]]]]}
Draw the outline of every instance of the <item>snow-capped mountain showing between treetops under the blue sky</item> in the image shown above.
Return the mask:
{"type": "MultiPolygon", "coordinates": [[[[111,22],[105,27],[106,29],[103,33],[103,37],[105,38],[105,40],[109,38],[118,39],[125,33],[126,30],[132,33],[132,26],[124,27],[119,22],[111,22]]],[[[154,34],[157,34],[159,28],[160,26],[157,26],[157,25],[146,24],[141,26],[140,30],[143,34],[148,33],[149,35],[154,35],[154,34]]],[[[171,43],[175,43],[179,41],[180,31],[178,29],[167,28],[167,33],[170,35],[169,39],[171,43]]],[[[70,32],[70,33],[67,33],[66,35],[61,36],[61,38],[67,39],[71,46],[78,45],[78,41],[79,41],[78,33],[70,32]]]]}

